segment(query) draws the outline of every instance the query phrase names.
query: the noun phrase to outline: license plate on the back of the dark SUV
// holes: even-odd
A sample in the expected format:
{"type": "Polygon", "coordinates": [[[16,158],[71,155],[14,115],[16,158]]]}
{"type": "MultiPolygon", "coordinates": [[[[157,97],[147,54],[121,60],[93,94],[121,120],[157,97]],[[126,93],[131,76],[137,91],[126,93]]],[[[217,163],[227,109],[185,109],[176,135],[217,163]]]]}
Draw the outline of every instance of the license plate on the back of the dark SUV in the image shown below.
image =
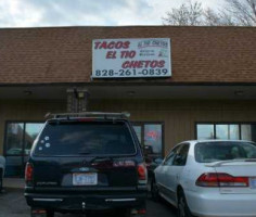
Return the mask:
{"type": "Polygon", "coordinates": [[[97,186],[98,175],[91,174],[73,174],[73,186],[97,186]]]}

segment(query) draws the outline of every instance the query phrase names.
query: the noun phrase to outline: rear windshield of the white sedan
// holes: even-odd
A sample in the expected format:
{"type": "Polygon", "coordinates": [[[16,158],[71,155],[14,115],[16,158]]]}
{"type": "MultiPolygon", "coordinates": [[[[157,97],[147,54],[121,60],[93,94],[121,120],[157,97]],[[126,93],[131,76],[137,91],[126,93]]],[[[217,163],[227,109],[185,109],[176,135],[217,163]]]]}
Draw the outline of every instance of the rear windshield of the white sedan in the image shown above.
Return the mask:
{"type": "Polygon", "coordinates": [[[195,145],[199,163],[249,158],[256,158],[256,146],[249,142],[201,142],[195,145]]]}

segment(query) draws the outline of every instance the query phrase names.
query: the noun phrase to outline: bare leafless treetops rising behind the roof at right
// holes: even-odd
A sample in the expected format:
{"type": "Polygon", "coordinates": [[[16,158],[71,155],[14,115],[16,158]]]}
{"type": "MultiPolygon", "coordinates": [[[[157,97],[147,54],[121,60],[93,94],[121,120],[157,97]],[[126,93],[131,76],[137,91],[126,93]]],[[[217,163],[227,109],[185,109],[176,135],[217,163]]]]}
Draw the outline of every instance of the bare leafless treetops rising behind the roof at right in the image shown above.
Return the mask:
{"type": "Polygon", "coordinates": [[[226,7],[215,11],[203,9],[199,1],[187,1],[163,17],[165,25],[183,26],[256,26],[256,0],[225,0],[226,7]]]}

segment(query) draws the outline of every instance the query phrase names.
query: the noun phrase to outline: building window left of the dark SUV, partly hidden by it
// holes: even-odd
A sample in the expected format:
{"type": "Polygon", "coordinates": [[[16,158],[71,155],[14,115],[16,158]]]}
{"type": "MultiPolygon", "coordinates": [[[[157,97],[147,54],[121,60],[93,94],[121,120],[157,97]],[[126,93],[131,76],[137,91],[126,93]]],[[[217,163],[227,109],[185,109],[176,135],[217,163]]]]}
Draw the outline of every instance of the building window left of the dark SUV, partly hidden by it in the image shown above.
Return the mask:
{"type": "Polygon", "coordinates": [[[24,167],[42,123],[7,123],[4,155],[7,157],[7,177],[23,177],[24,167]]]}

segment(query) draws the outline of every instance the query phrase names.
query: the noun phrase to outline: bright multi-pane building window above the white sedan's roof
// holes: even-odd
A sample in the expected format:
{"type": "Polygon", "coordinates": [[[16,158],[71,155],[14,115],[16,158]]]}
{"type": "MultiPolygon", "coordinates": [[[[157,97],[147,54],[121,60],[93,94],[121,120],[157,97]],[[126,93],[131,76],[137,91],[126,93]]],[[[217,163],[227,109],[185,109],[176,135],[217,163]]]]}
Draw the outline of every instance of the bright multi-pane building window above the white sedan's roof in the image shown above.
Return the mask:
{"type": "Polygon", "coordinates": [[[248,140],[256,142],[256,124],[196,124],[196,139],[248,140]]]}

